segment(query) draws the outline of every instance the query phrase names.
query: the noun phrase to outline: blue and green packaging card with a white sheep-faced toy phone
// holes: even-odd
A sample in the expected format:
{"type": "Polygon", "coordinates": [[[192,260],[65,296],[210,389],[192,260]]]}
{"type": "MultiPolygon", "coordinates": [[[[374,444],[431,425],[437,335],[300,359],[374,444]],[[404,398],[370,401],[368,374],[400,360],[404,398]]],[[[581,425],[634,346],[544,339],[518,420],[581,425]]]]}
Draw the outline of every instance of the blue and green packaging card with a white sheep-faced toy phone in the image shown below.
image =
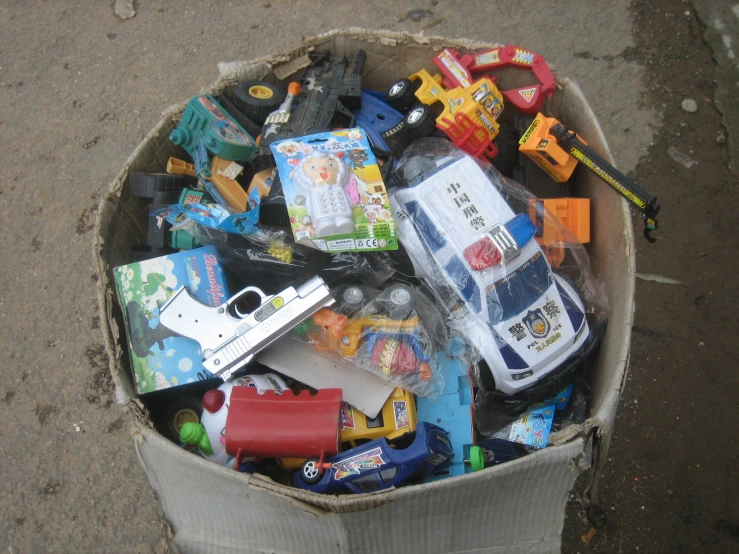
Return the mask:
{"type": "Polygon", "coordinates": [[[363,130],[291,138],[270,148],[295,242],[329,252],[398,248],[385,184],[363,130]]]}

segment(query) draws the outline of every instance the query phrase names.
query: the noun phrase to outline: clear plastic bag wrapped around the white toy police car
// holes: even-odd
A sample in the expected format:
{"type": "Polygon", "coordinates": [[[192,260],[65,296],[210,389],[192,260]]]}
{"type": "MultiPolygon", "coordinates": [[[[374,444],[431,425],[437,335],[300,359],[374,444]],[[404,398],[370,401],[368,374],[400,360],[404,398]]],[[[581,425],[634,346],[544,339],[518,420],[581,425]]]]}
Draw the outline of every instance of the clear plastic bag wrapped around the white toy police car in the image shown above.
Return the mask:
{"type": "Polygon", "coordinates": [[[478,352],[476,418],[501,428],[573,381],[608,308],[574,234],[521,185],[442,139],[410,146],[391,181],[416,276],[478,352]],[[540,244],[542,226],[556,240],[540,244]]]}

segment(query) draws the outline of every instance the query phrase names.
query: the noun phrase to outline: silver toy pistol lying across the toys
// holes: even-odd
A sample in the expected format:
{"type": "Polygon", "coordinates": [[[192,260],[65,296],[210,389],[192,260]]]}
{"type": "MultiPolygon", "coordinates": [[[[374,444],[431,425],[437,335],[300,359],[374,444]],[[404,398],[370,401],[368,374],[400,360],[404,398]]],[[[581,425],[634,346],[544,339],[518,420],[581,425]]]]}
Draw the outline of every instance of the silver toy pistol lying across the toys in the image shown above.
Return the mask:
{"type": "Polygon", "coordinates": [[[205,369],[227,381],[260,350],[333,303],[319,276],[274,296],[247,287],[217,307],[201,304],[182,287],[162,306],[159,321],[196,340],[203,350],[205,369]]]}

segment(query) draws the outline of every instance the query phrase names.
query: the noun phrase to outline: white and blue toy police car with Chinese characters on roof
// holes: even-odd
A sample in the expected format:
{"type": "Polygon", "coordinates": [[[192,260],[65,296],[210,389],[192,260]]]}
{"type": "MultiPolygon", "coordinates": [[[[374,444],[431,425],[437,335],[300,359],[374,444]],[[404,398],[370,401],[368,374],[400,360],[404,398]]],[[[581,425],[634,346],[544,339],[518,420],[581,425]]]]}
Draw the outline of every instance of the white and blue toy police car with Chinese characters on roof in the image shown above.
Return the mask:
{"type": "Polygon", "coordinates": [[[533,223],[513,212],[469,156],[410,185],[391,195],[398,236],[416,275],[457,298],[455,325],[481,353],[495,388],[516,394],[555,372],[589,327],[578,293],[531,240],[533,223]]]}

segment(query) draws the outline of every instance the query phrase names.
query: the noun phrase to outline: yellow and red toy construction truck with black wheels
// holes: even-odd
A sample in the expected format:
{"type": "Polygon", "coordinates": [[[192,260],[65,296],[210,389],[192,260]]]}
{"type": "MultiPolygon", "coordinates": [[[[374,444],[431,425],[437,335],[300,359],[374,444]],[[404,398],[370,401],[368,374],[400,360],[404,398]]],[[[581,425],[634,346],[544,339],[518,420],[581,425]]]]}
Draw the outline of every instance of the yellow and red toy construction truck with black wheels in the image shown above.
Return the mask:
{"type": "Polygon", "coordinates": [[[401,79],[387,92],[387,103],[406,112],[405,132],[411,139],[428,136],[434,129],[472,156],[494,158],[493,139],[500,132],[497,122],[503,96],[492,79],[472,75],[459,63],[457,52],[443,50],[434,58],[442,74],[425,69],[401,79]],[[420,102],[420,104],[418,104],[420,102]]]}

